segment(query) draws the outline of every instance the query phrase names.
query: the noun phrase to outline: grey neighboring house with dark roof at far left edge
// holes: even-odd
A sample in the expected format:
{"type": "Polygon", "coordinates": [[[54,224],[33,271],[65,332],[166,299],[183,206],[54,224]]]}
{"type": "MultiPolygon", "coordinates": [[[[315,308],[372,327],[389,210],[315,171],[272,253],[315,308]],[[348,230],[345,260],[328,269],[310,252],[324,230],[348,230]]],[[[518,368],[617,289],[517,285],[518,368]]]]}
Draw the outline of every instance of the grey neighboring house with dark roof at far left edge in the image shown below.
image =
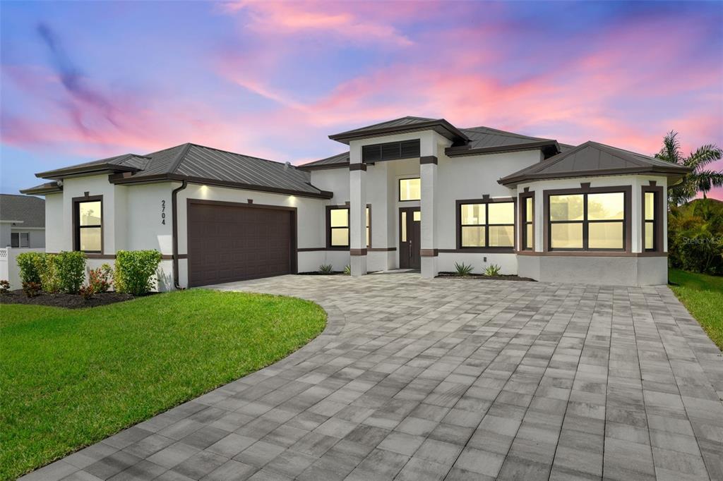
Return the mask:
{"type": "Polygon", "coordinates": [[[45,247],[45,201],[0,194],[0,247],[45,247]]]}

